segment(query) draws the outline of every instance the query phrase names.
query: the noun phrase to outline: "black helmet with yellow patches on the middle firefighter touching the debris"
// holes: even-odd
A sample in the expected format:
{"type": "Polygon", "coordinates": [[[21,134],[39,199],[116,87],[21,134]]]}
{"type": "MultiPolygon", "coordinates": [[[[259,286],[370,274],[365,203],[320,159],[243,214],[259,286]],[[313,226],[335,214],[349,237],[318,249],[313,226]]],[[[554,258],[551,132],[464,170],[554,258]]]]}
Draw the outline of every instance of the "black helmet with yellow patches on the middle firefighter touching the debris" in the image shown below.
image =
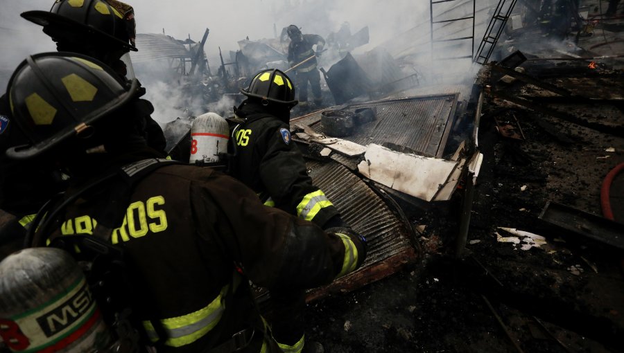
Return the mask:
{"type": "Polygon", "coordinates": [[[245,96],[259,98],[263,105],[275,102],[295,107],[295,86],[286,73],[278,69],[260,71],[249,84],[248,89],[241,89],[245,96]]]}

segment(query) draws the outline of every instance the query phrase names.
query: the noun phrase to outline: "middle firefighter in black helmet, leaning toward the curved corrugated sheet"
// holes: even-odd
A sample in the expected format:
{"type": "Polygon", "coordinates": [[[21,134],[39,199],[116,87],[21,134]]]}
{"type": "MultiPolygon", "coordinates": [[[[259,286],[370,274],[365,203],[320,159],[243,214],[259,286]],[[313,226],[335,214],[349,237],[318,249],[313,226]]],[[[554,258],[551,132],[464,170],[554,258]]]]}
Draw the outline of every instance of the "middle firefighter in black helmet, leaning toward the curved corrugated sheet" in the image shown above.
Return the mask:
{"type": "MultiPolygon", "coordinates": [[[[290,111],[295,105],[295,89],[290,78],[277,69],[257,73],[248,89],[248,98],[234,109],[232,152],[229,170],[259,194],[261,201],[300,219],[313,221],[324,229],[349,229],[338,210],[312,184],[299,148],[291,141],[290,111]]],[[[304,347],[304,292],[270,288],[273,304],[273,336],[286,352],[304,347]]],[[[318,345],[318,343],[313,343],[318,345]]],[[[311,350],[311,345],[306,346],[311,350]]]]}

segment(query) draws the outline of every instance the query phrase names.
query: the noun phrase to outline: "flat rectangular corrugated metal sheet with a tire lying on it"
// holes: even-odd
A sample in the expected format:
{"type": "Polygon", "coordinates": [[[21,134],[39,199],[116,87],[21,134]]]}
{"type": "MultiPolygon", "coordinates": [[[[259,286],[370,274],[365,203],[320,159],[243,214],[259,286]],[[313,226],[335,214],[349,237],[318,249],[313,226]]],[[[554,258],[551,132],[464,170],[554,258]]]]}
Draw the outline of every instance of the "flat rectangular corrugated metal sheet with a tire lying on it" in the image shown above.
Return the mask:
{"type": "MultiPolygon", "coordinates": [[[[453,124],[457,94],[379,100],[349,105],[343,110],[376,109],[376,120],[356,128],[343,139],[360,145],[393,144],[428,156],[442,157],[453,124]]],[[[320,120],[311,127],[322,133],[320,120]]]]}

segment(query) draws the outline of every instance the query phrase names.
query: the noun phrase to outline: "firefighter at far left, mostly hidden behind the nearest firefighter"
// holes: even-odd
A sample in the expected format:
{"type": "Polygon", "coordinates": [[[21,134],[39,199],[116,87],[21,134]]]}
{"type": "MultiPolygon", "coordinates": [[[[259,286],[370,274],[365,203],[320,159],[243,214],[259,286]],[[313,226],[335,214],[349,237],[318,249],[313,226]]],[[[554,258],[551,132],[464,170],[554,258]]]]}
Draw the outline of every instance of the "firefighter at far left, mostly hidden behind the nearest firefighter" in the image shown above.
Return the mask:
{"type": "MultiPolygon", "coordinates": [[[[57,44],[59,51],[83,53],[108,64],[120,77],[127,69],[122,55],[137,51],[134,46],[135,19],[132,6],[116,0],[71,1],[59,0],[50,11],[28,11],[22,17],[43,26],[43,31],[57,44]]],[[[145,89],[141,88],[141,94],[145,89]]],[[[166,140],[161,127],[150,114],[154,111],[148,100],[139,100],[137,109],[146,120],[148,144],[165,153],[166,140]]],[[[24,136],[10,124],[8,101],[0,97],[0,148],[24,141],[24,136]]],[[[33,159],[28,163],[8,161],[0,156],[0,208],[15,215],[21,226],[28,226],[42,202],[64,189],[62,175],[49,161],[33,159]],[[28,185],[28,188],[19,187],[28,185]]],[[[11,229],[15,229],[14,227],[11,229]]],[[[0,228],[0,246],[23,235],[3,235],[0,228]]]]}

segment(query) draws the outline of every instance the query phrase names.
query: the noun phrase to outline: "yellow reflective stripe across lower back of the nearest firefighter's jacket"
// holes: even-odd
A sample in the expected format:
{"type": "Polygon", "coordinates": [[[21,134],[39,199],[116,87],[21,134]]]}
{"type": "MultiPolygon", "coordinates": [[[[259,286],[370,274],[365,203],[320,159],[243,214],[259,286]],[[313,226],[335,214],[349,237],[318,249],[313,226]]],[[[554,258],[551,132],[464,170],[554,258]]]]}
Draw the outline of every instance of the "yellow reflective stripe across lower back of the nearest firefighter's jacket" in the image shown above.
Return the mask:
{"type": "MultiPolygon", "coordinates": [[[[210,302],[207,307],[199,309],[191,314],[178,316],[177,318],[165,318],[160,320],[167,334],[165,345],[170,347],[182,347],[189,345],[205,336],[213,329],[223,316],[225,310],[225,296],[229,285],[223,287],[219,295],[210,302]]],[[[152,323],[144,321],[143,326],[151,341],[158,340],[158,335],[152,323]]]]}

